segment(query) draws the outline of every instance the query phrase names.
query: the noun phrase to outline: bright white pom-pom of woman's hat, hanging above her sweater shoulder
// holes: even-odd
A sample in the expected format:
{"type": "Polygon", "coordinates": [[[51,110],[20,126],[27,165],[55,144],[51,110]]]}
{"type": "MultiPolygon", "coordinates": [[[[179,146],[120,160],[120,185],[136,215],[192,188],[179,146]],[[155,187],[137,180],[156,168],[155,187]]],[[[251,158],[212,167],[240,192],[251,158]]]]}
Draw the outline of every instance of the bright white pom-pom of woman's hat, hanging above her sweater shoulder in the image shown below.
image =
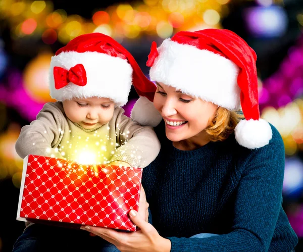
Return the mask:
{"type": "Polygon", "coordinates": [[[269,123],[263,119],[241,120],[235,128],[237,142],[249,149],[267,145],[273,136],[269,123]]]}

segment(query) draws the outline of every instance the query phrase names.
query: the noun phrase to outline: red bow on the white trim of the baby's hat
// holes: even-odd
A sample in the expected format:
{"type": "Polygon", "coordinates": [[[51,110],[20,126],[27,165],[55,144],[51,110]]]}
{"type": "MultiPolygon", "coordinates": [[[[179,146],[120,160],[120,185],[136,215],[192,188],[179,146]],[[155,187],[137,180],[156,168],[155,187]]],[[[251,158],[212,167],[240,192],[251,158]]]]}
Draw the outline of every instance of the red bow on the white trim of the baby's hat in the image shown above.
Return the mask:
{"type": "Polygon", "coordinates": [[[82,64],[77,64],[70,70],[62,67],[54,67],[55,88],[60,89],[72,82],[78,86],[85,86],[87,83],[86,71],[82,64]]]}

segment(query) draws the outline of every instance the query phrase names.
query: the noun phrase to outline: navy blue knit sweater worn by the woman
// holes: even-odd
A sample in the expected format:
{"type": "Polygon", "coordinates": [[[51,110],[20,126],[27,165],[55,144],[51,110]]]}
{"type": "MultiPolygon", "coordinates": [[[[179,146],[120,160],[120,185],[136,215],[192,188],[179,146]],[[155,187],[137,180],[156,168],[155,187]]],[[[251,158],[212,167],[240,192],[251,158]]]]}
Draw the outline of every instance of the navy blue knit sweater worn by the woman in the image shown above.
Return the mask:
{"type": "Polygon", "coordinates": [[[289,252],[298,239],[282,209],[284,145],[279,132],[262,148],[240,146],[234,135],[195,150],[179,150],[155,131],[162,147],[144,168],[153,225],[171,251],[289,252]],[[209,238],[188,238],[215,233],[209,238]]]}

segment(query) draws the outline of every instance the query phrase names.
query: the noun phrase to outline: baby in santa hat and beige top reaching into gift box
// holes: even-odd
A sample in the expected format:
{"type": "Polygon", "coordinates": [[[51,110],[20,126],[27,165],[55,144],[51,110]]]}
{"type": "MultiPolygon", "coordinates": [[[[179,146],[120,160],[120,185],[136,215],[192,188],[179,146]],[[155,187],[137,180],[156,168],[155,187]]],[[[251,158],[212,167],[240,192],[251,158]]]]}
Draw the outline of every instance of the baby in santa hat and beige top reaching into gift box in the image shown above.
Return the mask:
{"type": "Polygon", "coordinates": [[[120,106],[127,103],[132,84],[153,100],[154,85],[148,82],[131,54],[111,37],[76,37],[52,58],[49,88],[57,102],[46,103],[22,128],[18,155],[144,168],[157,157],[160,142],[151,127],[123,115],[120,106]]]}

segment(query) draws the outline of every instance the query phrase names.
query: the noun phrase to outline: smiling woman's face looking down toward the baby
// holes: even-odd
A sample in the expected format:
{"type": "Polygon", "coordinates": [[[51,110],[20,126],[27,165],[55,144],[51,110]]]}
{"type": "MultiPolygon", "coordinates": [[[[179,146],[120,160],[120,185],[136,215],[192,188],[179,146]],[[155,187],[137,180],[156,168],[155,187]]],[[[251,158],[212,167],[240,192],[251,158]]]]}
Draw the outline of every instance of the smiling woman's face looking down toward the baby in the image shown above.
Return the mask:
{"type": "Polygon", "coordinates": [[[165,121],[166,136],[173,142],[198,136],[215,116],[218,106],[193,98],[174,87],[157,83],[154,106],[165,121]]]}

